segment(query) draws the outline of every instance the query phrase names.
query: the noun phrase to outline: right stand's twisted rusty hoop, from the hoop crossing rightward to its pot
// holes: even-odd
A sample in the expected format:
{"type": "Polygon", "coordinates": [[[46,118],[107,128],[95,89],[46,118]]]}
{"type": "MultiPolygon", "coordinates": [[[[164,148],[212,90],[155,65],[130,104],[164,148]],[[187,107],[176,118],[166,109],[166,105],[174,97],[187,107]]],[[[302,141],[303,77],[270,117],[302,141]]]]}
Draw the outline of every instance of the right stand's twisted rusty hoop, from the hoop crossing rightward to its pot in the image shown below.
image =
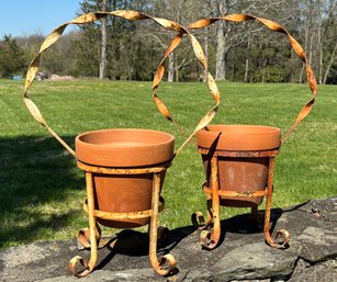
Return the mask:
{"type": "Polygon", "coordinates": [[[273,31],[273,32],[280,32],[283,33],[288,36],[289,42],[291,47],[293,48],[293,50],[297,54],[297,56],[304,61],[305,64],[305,69],[306,69],[306,78],[307,78],[307,83],[308,87],[311,89],[312,92],[312,98],[310,99],[310,101],[302,108],[302,110],[300,111],[297,117],[295,119],[293,125],[290,127],[290,129],[285,133],[283,139],[282,139],[282,145],[284,144],[284,142],[287,140],[287,138],[289,137],[289,135],[293,132],[293,129],[305,119],[305,116],[311,112],[313,104],[315,102],[315,98],[317,94],[317,82],[316,82],[316,78],[314,76],[313,70],[311,69],[307,59],[306,59],[306,55],[302,48],[302,46],[300,45],[300,43],[280,24],[271,21],[271,20],[267,20],[263,18],[259,18],[259,16],[255,16],[255,15],[249,15],[249,14],[228,14],[228,15],[224,15],[221,18],[206,18],[206,19],[202,19],[199,20],[192,24],[190,24],[188,26],[188,29],[203,29],[206,27],[217,21],[229,21],[229,22],[245,22],[245,21],[249,21],[249,20],[256,20],[261,22],[263,25],[266,25],[269,30],[273,31]]]}

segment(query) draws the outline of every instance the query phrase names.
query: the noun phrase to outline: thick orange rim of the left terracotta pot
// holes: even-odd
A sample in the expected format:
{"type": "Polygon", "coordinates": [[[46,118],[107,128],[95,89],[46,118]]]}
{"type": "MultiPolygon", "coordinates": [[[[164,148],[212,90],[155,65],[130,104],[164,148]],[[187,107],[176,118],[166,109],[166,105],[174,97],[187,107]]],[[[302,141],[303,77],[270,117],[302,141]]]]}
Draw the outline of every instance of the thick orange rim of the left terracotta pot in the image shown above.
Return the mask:
{"type": "Polygon", "coordinates": [[[149,167],[172,159],[175,136],[143,128],[109,128],[76,136],[78,160],[100,167],[149,167]]]}

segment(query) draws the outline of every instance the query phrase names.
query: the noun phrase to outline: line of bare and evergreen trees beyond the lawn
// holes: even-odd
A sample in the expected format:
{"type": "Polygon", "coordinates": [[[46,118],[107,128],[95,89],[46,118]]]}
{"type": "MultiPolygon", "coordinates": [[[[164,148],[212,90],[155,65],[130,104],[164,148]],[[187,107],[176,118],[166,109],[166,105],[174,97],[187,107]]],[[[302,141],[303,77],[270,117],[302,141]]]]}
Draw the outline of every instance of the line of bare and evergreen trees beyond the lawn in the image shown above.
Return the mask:
{"type": "MultiPolygon", "coordinates": [[[[188,25],[202,18],[248,13],[277,21],[303,46],[318,83],[337,83],[337,0],[82,0],[79,14],[91,11],[137,10],[188,25]]],[[[192,33],[209,58],[217,80],[303,82],[302,61],[287,36],[262,24],[217,22],[192,33]]],[[[46,75],[111,80],[150,80],[175,33],[151,21],[114,16],[80,25],[43,56],[46,75]]],[[[26,69],[44,36],[32,34],[0,41],[0,77],[26,69]]],[[[204,80],[187,38],[168,60],[168,81],[204,80]]]]}

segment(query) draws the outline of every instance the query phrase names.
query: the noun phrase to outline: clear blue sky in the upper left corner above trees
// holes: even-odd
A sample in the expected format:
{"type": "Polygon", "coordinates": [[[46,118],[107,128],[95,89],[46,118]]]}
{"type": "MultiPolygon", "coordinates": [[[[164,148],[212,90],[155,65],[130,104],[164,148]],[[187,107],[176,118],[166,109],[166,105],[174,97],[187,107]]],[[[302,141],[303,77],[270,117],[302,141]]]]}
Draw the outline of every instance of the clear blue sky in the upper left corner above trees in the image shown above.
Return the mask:
{"type": "Polygon", "coordinates": [[[4,34],[47,35],[61,23],[76,18],[79,2],[80,0],[0,0],[0,40],[4,34]]]}

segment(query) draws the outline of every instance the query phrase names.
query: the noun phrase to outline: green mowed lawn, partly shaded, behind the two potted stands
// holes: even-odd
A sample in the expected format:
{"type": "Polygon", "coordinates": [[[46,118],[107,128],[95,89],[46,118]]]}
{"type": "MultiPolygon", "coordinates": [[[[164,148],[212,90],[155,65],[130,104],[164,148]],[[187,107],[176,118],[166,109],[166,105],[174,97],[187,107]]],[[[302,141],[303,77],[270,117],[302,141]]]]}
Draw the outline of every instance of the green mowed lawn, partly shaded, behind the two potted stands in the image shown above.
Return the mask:
{"type": "MultiPolygon", "coordinates": [[[[183,142],[151,101],[150,82],[98,80],[36,81],[30,95],[48,124],[74,147],[78,133],[142,127],[165,131],[183,142]]],[[[213,124],[278,126],[284,134],[310,99],[306,84],[218,82],[222,106],[213,124]]],[[[0,80],[0,247],[66,239],[87,226],[83,173],[72,156],[37,124],[22,103],[23,82],[0,80]]],[[[213,105],[204,83],[162,83],[158,94],[191,133],[213,105]]],[[[337,194],[337,87],[318,87],[316,104],[277,157],[273,207],[337,194]]],[[[203,167],[188,145],[165,180],[160,225],[191,225],[205,212],[203,167]]],[[[260,208],[265,208],[263,205],[260,208]]],[[[248,210],[223,208],[223,218],[248,210]]],[[[115,230],[105,229],[105,235],[115,230]]]]}

